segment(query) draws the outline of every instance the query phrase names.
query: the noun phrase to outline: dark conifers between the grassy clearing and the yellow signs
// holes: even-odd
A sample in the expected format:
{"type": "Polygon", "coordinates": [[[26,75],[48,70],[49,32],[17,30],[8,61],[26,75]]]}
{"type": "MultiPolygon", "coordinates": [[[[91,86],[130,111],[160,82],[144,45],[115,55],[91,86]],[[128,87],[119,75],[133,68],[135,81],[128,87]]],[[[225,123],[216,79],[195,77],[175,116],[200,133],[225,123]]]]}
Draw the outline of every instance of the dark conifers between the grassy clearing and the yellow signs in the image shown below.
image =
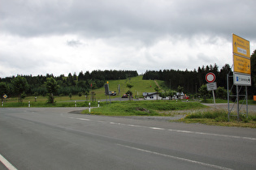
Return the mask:
{"type": "Polygon", "coordinates": [[[220,70],[215,64],[214,66],[202,66],[197,70],[146,70],[142,79],[159,79],[163,80],[167,87],[177,90],[178,87],[184,87],[187,93],[195,94],[198,89],[206,84],[205,76],[207,73],[212,72],[216,75],[216,82],[218,86],[226,86],[226,77],[228,72],[232,73],[231,67],[226,64],[220,70]]]}

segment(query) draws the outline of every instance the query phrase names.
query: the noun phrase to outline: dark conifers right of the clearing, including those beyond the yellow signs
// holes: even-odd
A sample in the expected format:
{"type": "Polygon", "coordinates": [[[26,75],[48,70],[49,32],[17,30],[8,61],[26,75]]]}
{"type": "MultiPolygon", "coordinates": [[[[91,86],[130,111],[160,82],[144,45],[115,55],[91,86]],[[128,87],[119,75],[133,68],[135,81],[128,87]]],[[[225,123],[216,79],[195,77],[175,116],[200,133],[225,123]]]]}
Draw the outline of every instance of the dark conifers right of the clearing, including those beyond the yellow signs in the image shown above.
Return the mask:
{"type": "MultiPolygon", "coordinates": [[[[216,64],[214,66],[202,66],[198,67],[197,70],[146,70],[143,74],[143,79],[158,79],[163,80],[167,87],[171,90],[179,91],[178,88],[182,87],[184,92],[189,94],[202,93],[202,89],[206,89],[207,73],[212,72],[215,74],[218,87],[223,89],[231,89],[233,80],[229,79],[227,83],[227,74],[232,75],[232,66],[225,64],[220,70],[216,64]],[[227,87],[229,84],[229,87],[227,87]]],[[[251,86],[248,87],[249,98],[252,99],[256,95],[256,50],[251,55],[251,86]]],[[[236,93],[236,92],[234,92],[236,93]]],[[[206,95],[206,94],[204,94],[206,95]]],[[[224,98],[224,97],[223,97],[224,98]]]]}

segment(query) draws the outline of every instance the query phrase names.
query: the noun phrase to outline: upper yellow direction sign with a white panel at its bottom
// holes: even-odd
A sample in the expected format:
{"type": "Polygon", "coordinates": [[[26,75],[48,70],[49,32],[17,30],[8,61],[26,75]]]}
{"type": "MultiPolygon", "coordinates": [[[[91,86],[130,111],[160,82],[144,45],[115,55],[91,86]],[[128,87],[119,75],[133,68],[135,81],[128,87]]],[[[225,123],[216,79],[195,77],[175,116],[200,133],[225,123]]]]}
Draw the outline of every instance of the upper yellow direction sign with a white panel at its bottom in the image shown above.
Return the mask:
{"type": "Polygon", "coordinates": [[[245,57],[250,57],[249,53],[249,40],[245,40],[240,36],[232,34],[233,39],[233,53],[242,55],[245,57]]]}

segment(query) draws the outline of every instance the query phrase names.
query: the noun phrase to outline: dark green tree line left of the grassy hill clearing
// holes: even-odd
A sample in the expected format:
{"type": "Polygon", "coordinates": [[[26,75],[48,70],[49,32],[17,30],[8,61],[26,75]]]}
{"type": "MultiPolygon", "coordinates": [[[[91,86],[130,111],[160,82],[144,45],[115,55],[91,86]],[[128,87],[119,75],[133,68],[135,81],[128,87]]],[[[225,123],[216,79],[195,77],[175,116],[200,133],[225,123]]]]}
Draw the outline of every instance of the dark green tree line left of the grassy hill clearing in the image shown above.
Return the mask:
{"type": "Polygon", "coordinates": [[[137,71],[134,70],[93,70],[91,73],[80,71],[78,75],[69,73],[67,77],[64,74],[59,76],[53,74],[37,76],[18,74],[0,79],[0,94],[2,99],[5,94],[10,97],[19,96],[20,101],[27,95],[46,96],[47,93],[52,93],[49,89],[47,90],[47,81],[55,81],[58,84],[58,89],[54,91],[54,95],[86,95],[89,94],[90,89],[103,87],[106,80],[127,79],[137,75],[137,71]]]}

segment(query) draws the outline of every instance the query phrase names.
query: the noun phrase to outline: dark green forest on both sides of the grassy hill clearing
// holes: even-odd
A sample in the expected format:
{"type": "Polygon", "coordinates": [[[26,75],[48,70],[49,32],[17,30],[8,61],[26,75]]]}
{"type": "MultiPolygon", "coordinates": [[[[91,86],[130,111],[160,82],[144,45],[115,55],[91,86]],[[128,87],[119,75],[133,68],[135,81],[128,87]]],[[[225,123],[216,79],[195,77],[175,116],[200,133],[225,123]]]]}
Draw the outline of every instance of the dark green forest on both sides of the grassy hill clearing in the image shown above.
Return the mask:
{"type": "MultiPolygon", "coordinates": [[[[219,66],[198,66],[194,70],[146,70],[143,74],[143,79],[158,79],[163,80],[166,87],[171,90],[178,91],[178,87],[182,87],[187,94],[197,94],[200,88],[206,84],[205,76],[207,73],[213,72],[216,75],[215,82],[218,87],[227,89],[227,74],[232,75],[232,66],[225,64],[219,69],[219,66]]],[[[91,89],[103,87],[107,80],[128,79],[136,77],[135,70],[93,70],[92,72],[80,71],[69,73],[67,76],[61,74],[54,76],[53,74],[46,75],[16,75],[0,79],[0,95],[7,96],[46,96],[47,80],[53,78],[58,84],[58,88],[54,91],[54,95],[68,96],[70,94],[89,94],[91,89]]],[[[249,99],[256,95],[256,50],[251,56],[251,76],[252,86],[248,88],[249,99]]],[[[52,80],[51,80],[52,81],[52,80]]],[[[230,79],[229,89],[232,87],[232,79],[230,79]]],[[[22,98],[22,97],[21,97],[22,98]]]]}

